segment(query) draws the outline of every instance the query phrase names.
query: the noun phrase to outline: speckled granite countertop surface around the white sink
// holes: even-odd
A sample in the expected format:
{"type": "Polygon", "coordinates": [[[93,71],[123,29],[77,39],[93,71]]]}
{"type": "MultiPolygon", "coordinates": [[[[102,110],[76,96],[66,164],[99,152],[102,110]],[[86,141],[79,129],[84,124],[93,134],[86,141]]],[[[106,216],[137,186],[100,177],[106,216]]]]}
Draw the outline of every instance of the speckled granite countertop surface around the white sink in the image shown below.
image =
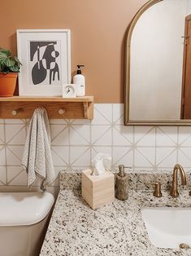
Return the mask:
{"type": "Polygon", "coordinates": [[[115,201],[91,210],[79,190],[61,190],[54,208],[41,256],[67,255],[191,255],[191,249],[160,249],[151,245],[141,209],[191,207],[189,191],[172,198],[156,198],[150,191],[129,191],[127,201],[115,201]]]}

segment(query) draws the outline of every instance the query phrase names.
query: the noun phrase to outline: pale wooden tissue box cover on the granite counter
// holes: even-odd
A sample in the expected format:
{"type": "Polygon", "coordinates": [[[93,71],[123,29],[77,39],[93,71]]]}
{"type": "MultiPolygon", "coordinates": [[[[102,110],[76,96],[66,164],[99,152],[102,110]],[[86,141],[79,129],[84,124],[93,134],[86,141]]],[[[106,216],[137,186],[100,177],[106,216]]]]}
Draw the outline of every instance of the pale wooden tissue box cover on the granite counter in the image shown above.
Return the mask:
{"type": "Polygon", "coordinates": [[[99,208],[114,201],[115,177],[111,172],[99,176],[92,176],[92,170],[82,170],[82,196],[92,209],[99,208]]]}

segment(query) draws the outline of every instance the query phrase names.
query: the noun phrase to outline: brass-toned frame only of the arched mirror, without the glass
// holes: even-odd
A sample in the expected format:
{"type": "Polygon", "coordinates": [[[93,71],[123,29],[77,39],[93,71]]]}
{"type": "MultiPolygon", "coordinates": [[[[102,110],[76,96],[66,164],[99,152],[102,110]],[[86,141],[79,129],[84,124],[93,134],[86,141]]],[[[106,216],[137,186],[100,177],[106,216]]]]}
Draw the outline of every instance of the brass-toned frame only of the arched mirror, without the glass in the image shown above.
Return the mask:
{"type": "Polygon", "coordinates": [[[191,119],[182,120],[150,120],[150,121],[139,121],[129,119],[129,91],[130,91],[130,60],[131,60],[131,38],[132,32],[137,24],[137,21],[141,15],[158,2],[163,0],[150,0],[141,7],[137,14],[128,25],[128,29],[125,35],[125,58],[124,58],[124,125],[125,126],[191,126],[191,119]]]}

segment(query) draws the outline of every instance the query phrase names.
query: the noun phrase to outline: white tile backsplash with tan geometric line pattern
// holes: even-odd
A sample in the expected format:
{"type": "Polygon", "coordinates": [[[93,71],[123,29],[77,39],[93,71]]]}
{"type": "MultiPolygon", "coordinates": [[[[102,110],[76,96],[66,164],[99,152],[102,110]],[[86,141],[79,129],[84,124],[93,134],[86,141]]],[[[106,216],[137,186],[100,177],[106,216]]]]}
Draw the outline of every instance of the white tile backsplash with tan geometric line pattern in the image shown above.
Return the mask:
{"type": "MultiPolygon", "coordinates": [[[[26,186],[20,168],[28,120],[0,121],[0,185],[26,186]]],[[[91,166],[98,152],[111,154],[112,168],[172,170],[176,162],[191,170],[191,127],[124,126],[124,104],[94,104],[89,120],[50,120],[56,173],[91,166]]],[[[37,182],[35,184],[39,186],[37,182]]],[[[52,186],[58,186],[58,179],[52,186]]]]}

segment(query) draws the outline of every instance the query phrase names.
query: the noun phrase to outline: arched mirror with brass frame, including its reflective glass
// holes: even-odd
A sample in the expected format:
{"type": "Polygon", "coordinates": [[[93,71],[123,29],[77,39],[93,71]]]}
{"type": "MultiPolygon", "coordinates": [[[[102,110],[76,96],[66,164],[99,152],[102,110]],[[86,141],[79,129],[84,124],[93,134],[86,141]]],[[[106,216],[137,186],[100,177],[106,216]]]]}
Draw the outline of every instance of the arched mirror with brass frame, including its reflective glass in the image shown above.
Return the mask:
{"type": "Polygon", "coordinates": [[[128,28],[125,125],[191,126],[191,0],[151,0],[128,28]]]}

